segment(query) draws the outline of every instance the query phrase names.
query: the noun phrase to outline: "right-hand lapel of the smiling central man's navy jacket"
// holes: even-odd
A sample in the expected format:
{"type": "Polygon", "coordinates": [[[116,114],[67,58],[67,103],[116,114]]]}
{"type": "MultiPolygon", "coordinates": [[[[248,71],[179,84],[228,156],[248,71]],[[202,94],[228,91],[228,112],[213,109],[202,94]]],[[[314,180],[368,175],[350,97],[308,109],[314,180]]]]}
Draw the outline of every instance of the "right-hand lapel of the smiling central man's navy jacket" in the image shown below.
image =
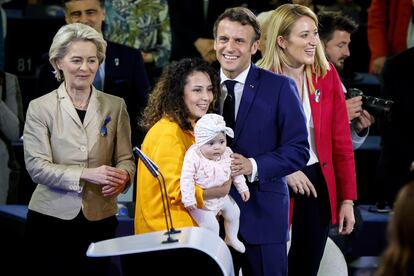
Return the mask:
{"type": "Polygon", "coordinates": [[[249,74],[246,78],[246,83],[244,84],[243,94],[240,101],[239,110],[237,112],[234,141],[237,141],[237,138],[239,137],[244,127],[243,122],[246,120],[246,117],[249,114],[249,110],[256,96],[259,79],[258,75],[259,70],[254,64],[252,64],[249,70],[249,74]]]}

